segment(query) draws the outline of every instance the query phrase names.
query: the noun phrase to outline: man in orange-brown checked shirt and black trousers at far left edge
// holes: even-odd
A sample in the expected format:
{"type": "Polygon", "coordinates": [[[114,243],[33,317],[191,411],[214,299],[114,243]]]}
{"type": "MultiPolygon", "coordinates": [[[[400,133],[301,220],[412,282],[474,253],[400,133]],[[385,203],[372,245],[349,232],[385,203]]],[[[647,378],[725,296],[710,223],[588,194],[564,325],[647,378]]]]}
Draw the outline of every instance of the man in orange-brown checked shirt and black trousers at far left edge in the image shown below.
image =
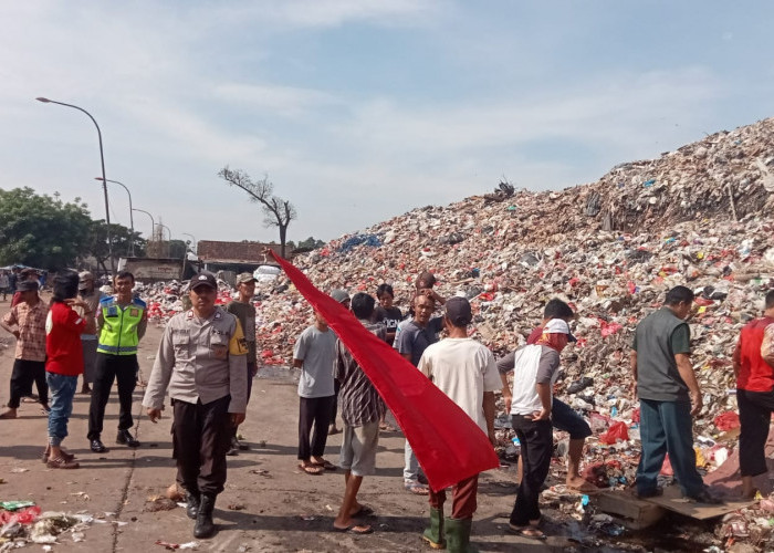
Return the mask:
{"type": "Polygon", "coordinates": [[[45,317],[49,307],[38,295],[38,282],[19,283],[20,302],[6,313],[0,326],[17,338],[17,353],[11,373],[11,399],[0,419],[17,418],[21,398],[32,393],[32,382],[38,387],[38,398],[49,411],[49,385],[45,383],[45,317]]]}

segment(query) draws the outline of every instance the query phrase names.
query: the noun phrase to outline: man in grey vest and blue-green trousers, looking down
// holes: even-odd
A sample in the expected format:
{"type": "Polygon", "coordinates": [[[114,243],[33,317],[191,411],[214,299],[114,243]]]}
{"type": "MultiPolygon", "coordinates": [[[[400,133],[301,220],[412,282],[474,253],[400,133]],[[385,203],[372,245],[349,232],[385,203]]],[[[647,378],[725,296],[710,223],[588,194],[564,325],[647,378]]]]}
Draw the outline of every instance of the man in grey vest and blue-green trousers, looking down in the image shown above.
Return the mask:
{"type": "Polygon", "coordinates": [[[660,495],[657,478],[666,453],[682,494],[702,503],[720,503],[695,468],[692,416],[702,398],[691,364],[691,331],[684,319],[693,292],[674,286],[665,305],[645,317],[635,332],[630,365],[640,405],[642,453],[637,467],[637,495],[660,495]]]}

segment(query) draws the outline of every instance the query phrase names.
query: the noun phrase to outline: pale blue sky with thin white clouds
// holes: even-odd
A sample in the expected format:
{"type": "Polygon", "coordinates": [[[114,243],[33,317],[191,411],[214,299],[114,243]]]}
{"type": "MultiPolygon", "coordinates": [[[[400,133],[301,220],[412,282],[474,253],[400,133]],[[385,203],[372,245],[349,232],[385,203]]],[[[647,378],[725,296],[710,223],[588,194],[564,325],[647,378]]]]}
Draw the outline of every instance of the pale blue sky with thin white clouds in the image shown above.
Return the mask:
{"type": "Polygon", "coordinates": [[[94,116],[106,177],[172,238],[279,239],[229,166],[295,206],[289,239],[327,241],[774,116],[771,21],[714,0],[6,1],[0,188],[105,217],[96,128],[43,96],[94,116]]]}

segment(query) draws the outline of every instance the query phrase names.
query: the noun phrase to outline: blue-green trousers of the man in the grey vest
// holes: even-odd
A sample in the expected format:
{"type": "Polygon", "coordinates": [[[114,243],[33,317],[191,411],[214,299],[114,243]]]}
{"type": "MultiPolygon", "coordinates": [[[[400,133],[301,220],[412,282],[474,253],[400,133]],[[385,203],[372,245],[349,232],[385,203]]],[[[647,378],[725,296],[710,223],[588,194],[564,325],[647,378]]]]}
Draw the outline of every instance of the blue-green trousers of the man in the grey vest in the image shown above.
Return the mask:
{"type": "Polygon", "coordinates": [[[669,453],[682,494],[700,493],[704,482],[693,451],[691,404],[640,399],[639,408],[642,456],[637,467],[637,492],[647,494],[656,489],[663,458],[669,453]]]}

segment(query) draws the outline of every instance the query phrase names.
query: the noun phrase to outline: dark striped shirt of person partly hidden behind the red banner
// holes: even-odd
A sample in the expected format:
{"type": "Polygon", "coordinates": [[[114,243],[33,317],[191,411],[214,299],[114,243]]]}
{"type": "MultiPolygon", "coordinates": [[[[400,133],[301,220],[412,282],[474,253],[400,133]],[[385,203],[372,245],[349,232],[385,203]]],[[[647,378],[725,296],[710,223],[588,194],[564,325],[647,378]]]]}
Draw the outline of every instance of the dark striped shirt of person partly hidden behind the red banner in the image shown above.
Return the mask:
{"type": "MultiPolygon", "coordinates": [[[[363,320],[360,323],[379,340],[387,341],[387,328],[384,324],[363,320]]],[[[345,425],[357,427],[379,420],[385,411],[385,404],[341,340],[336,341],[334,376],[342,385],[338,392],[338,405],[342,407],[342,420],[345,425]]]]}

